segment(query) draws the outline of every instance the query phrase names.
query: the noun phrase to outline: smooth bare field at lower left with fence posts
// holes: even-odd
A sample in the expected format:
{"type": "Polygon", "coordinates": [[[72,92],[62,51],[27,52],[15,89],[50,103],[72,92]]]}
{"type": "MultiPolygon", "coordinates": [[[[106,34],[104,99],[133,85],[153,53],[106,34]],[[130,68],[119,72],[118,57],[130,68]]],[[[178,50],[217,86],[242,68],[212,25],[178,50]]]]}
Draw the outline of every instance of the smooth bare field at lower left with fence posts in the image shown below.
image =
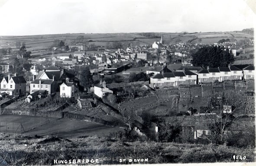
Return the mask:
{"type": "Polygon", "coordinates": [[[104,136],[111,132],[121,131],[120,128],[113,128],[89,121],[77,121],[69,119],[24,116],[24,115],[0,115],[0,131],[10,132],[13,130],[19,133],[22,124],[24,135],[56,135],[58,137],[82,137],[82,136],[104,136]],[[49,122],[50,121],[50,122],[49,122]],[[6,126],[7,122],[7,126],[6,126]],[[14,125],[13,125],[14,124],[14,125]],[[7,128],[7,129],[6,129],[7,128]],[[14,129],[13,129],[14,128],[14,129]]]}

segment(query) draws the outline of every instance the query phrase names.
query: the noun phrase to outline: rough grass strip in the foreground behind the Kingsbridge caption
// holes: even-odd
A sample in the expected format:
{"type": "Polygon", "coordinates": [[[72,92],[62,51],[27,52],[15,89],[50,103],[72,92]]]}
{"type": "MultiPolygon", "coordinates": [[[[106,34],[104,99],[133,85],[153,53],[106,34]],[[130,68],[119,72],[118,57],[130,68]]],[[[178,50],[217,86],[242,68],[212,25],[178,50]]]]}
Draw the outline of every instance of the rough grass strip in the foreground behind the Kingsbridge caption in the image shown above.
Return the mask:
{"type": "Polygon", "coordinates": [[[120,159],[146,159],[147,163],[254,162],[254,148],[225,145],[127,142],[110,137],[62,139],[52,136],[21,137],[0,133],[0,156],[10,165],[53,165],[54,160],[99,159],[119,164],[120,159]],[[234,161],[233,155],[247,160],[234,161]]]}

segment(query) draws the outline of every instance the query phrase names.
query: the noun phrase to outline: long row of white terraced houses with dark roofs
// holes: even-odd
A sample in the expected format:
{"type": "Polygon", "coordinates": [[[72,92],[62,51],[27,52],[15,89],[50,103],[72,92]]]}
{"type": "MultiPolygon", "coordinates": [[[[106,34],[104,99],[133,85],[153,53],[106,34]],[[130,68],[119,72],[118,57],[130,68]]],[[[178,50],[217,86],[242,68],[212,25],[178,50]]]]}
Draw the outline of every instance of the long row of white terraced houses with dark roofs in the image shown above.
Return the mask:
{"type": "MultiPolygon", "coordinates": [[[[216,67],[201,69],[199,71],[187,70],[171,71],[166,66],[159,71],[147,71],[153,73],[150,77],[149,86],[151,88],[163,88],[179,85],[196,85],[201,83],[212,83],[215,81],[223,82],[225,80],[251,80],[254,79],[254,66],[250,65],[240,69],[235,66],[216,67]]],[[[188,67],[189,68],[189,67],[188,67]]]]}

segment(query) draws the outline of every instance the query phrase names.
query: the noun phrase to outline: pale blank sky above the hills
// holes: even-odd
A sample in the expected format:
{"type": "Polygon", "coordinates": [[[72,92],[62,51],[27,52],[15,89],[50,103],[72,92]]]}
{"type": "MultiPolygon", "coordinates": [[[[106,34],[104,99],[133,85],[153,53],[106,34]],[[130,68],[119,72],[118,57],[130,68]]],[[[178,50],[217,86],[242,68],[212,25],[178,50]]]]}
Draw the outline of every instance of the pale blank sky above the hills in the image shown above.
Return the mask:
{"type": "MultiPolygon", "coordinates": [[[[1,1],[1,0],[0,0],[1,1]]],[[[0,35],[253,28],[244,0],[3,0],[0,35]]]]}

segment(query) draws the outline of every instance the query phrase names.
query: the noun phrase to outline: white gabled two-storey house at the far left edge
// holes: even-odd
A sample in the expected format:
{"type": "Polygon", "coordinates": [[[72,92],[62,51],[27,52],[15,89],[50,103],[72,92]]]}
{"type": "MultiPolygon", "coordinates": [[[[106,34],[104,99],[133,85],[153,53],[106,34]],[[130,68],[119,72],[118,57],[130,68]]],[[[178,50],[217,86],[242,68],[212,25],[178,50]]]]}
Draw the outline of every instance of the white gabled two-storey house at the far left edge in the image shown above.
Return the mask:
{"type": "Polygon", "coordinates": [[[9,74],[8,77],[3,77],[0,85],[0,93],[5,92],[10,96],[26,93],[26,80],[23,76],[12,77],[9,74]]]}

